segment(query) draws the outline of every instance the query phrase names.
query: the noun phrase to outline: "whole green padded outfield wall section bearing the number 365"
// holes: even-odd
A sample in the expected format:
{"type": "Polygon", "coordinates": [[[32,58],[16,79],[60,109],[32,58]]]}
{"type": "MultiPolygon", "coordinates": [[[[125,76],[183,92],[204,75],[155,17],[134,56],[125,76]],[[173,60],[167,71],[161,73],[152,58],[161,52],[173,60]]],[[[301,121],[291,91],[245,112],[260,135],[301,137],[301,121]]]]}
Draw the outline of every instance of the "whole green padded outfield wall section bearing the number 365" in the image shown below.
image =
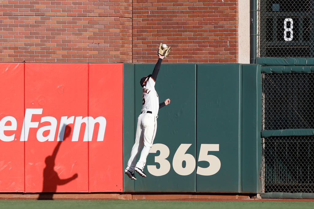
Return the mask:
{"type": "MultiPolygon", "coordinates": [[[[139,80],[153,68],[124,67],[124,167],[142,108],[139,80]]],[[[171,103],[158,114],[148,176],[124,175],[124,191],[259,193],[260,77],[253,64],[162,64],[155,88],[160,102],[171,103]]]]}

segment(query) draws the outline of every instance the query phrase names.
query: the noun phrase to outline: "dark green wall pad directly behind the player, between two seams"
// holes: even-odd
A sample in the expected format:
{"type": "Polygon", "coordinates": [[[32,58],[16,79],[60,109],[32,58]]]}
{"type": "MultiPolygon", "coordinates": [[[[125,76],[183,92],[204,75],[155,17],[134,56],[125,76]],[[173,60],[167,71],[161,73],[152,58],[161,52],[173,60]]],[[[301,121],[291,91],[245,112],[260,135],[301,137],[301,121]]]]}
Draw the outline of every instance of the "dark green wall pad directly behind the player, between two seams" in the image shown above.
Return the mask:
{"type": "MultiPolygon", "coordinates": [[[[156,59],[157,61],[157,59],[156,59]]],[[[143,76],[152,73],[155,64],[135,64],[135,124],[142,109],[142,87],[139,84],[143,76]]],[[[189,175],[179,175],[173,168],[174,155],[181,144],[191,144],[186,154],[195,158],[195,97],[196,97],[196,64],[161,64],[156,80],[155,89],[159,96],[159,102],[170,98],[171,103],[159,110],[157,119],[157,133],[154,144],[169,148],[169,156],[166,161],[170,163],[170,170],[165,175],[155,176],[148,171],[148,166],[165,168],[155,162],[155,156],[160,152],[150,153],[144,172],[146,178],[136,174],[135,191],[137,192],[194,192],[195,169],[189,175]]],[[[136,127],[135,127],[136,128],[136,127]]],[[[131,149],[131,146],[129,147],[131,149]]],[[[183,153],[184,154],[184,153],[183,153]]],[[[183,155],[182,154],[182,155],[183,155]]],[[[182,155],[177,155],[179,158],[182,155]]],[[[139,158],[139,156],[138,156],[139,158]]],[[[158,158],[158,157],[157,157],[158,158]]],[[[182,162],[185,166],[185,162],[182,162]]]]}

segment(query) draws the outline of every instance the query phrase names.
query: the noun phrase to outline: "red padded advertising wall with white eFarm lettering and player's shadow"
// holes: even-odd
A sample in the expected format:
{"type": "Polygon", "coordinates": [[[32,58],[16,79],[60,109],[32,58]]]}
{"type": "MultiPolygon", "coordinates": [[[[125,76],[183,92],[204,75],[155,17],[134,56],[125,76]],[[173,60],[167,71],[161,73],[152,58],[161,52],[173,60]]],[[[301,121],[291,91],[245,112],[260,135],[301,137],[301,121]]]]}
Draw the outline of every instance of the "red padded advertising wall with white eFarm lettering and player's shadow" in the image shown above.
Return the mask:
{"type": "Polygon", "coordinates": [[[123,191],[123,64],[0,73],[0,192],[123,191]]]}

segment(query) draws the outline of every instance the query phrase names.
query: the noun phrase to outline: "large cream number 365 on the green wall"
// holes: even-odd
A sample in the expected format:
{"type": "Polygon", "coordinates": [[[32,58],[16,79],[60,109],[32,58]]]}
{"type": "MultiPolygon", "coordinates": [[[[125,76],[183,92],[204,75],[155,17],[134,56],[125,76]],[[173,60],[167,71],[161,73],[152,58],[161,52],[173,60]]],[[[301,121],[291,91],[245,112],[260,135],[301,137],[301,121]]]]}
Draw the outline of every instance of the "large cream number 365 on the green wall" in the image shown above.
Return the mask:
{"type": "MultiPolygon", "coordinates": [[[[196,167],[195,158],[192,154],[186,154],[187,149],[192,144],[181,144],[173,156],[172,166],[173,170],[179,175],[190,175],[196,167]],[[185,168],[182,162],[186,162],[185,168]]],[[[149,153],[156,153],[160,151],[160,155],[155,156],[155,162],[160,164],[157,169],[156,165],[147,165],[147,170],[150,174],[155,176],[166,175],[171,168],[170,162],[166,159],[169,154],[169,148],[165,144],[153,144],[149,153]]],[[[198,161],[207,161],[209,166],[207,168],[197,167],[196,173],[199,175],[214,175],[220,169],[220,160],[214,155],[208,154],[208,151],[219,151],[219,144],[201,144],[198,155],[198,161]]]]}

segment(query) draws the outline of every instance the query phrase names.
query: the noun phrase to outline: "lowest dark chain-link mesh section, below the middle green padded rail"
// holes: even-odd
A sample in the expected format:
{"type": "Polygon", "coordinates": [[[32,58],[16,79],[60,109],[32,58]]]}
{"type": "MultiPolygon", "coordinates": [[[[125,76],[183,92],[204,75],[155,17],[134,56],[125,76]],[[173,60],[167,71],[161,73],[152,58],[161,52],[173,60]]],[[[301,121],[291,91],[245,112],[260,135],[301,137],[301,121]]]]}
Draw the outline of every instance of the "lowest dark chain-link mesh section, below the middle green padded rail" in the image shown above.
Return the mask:
{"type": "Polygon", "coordinates": [[[314,192],[314,136],[264,138],[264,191],[314,192]]]}

